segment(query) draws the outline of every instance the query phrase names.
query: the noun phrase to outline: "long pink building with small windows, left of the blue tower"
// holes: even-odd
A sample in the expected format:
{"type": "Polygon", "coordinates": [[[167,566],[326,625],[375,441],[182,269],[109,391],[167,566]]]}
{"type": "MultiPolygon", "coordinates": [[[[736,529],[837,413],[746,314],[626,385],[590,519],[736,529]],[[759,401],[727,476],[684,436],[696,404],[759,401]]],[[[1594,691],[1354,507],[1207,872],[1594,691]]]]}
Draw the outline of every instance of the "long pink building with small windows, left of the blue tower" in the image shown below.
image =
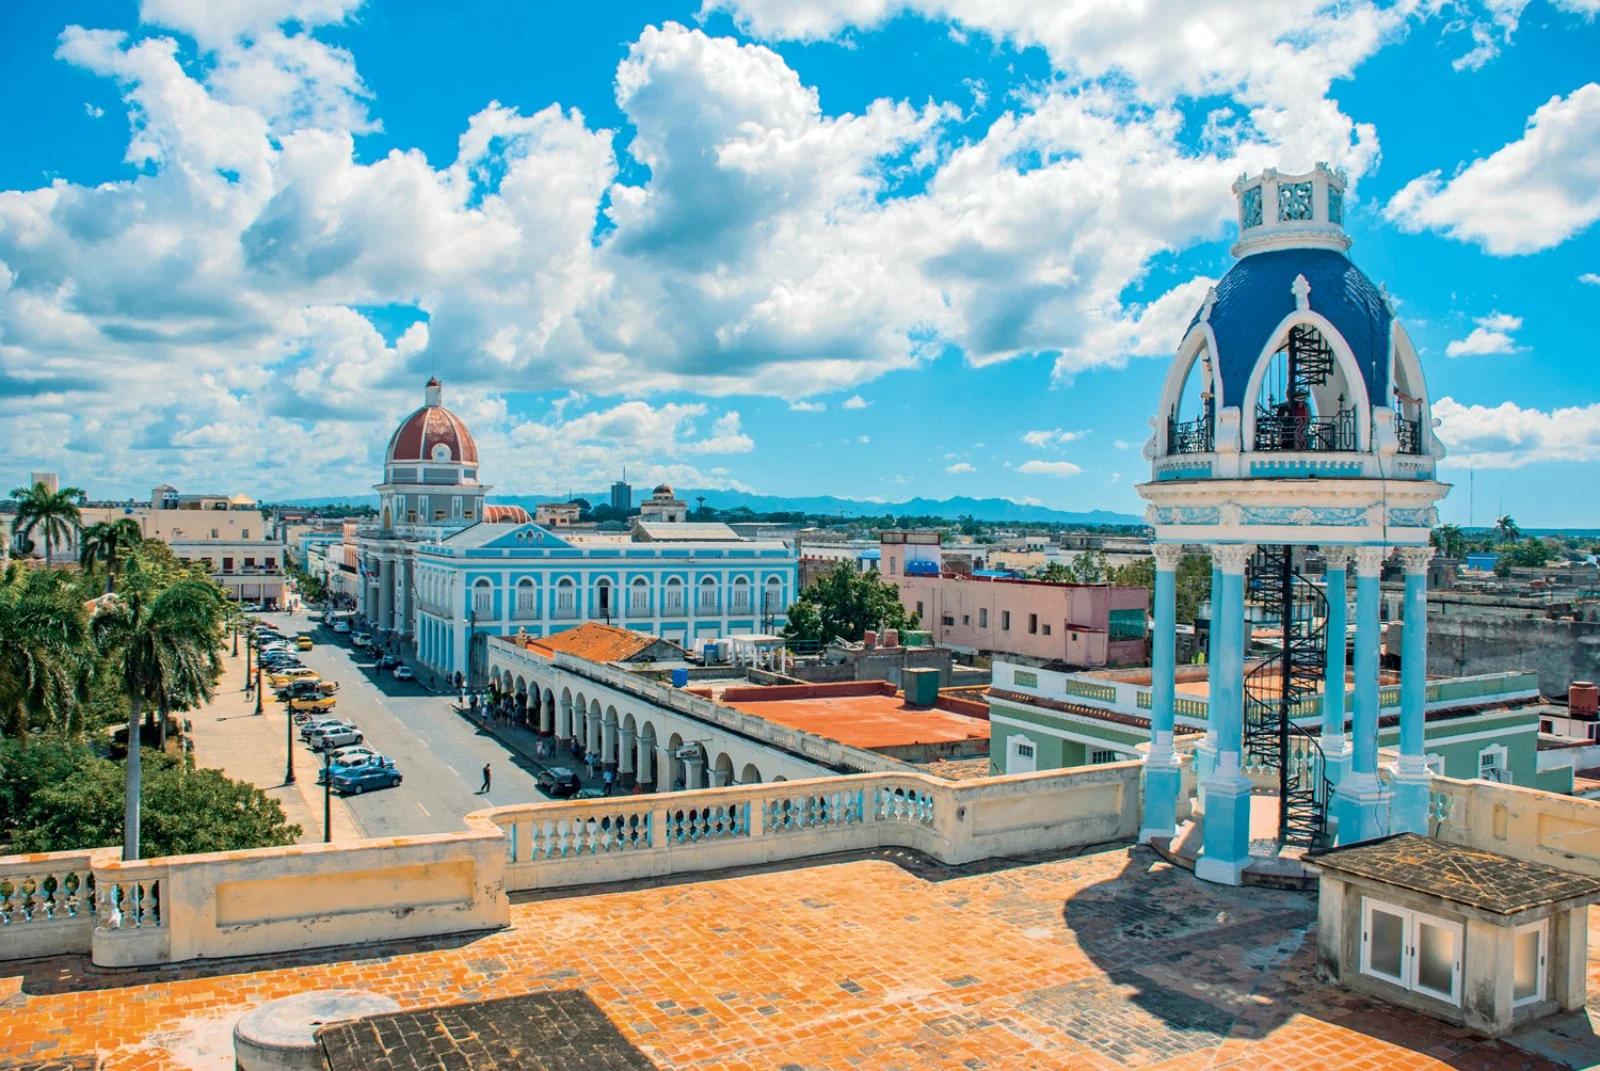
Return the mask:
{"type": "Polygon", "coordinates": [[[1149,661],[1147,588],[962,576],[920,564],[907,575],[904,551],[894,546],[891,556],[885,541],[883,580],[899,588],[901,604],[936,644],[1083,668],[1149,661]]]}

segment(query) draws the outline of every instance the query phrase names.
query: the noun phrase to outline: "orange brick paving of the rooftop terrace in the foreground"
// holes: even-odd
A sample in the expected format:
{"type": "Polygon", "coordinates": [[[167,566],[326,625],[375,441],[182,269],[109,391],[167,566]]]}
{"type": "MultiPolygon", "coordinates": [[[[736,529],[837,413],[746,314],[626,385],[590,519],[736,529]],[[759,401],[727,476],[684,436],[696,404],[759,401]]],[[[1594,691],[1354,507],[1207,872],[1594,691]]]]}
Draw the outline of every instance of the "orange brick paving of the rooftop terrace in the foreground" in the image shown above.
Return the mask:
{"type": "MultiPolygon", "coordinates": [[[[0,964],[0,1068],[98,1055],[106,1071],[222,1071],[203,1039],[264,1001],[326,988],[408,1012],[578,994],[552,999],[603,1013],[621,1045],[606,1058],[662,1071],[1600,1061],[1584,1015],[1530,1033],[1538,1055],[1318,983],[1310,893],[1206,885],[1141,848],[925,872],[867,858],[546,898],[486,937],[261,961],[0,964]]],[[[573,1036],[606,1034],[592,1026],[573,1036]]]]}

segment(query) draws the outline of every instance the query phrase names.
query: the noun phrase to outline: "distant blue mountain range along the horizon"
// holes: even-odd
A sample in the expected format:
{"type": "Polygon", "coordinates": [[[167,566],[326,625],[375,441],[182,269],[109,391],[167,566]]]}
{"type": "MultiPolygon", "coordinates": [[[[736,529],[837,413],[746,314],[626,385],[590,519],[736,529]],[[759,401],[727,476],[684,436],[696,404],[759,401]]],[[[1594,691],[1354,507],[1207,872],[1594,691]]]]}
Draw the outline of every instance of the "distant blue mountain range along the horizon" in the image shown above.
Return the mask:
{"type": "MultiPolygon", "coordinates": [[[[637,506],[642,498],[650,493],[650,488],[634,488],[634,504],[637,506]]],[[[1010,498],[909,498],[901,503],[870,503],[859,498],[835,498],[834,495],[810,495],[790,498],[786,495],[749,495],[746,491],[722,491],[722,490],[699,490],[699,488],[680,488],[677,496],[690,504],[690,507],[698,507],[699,499],[704,498],[706,504],[712,509],[738,509],[746,506],[758,514],[778,514],[778,512],[806,512],[806,514],[832,514],[835,517],[882,517],[883,514],[894,514],[896,517],[949,517],[955,520],[957,517],[970,515],[976,520],[989,522],[1018,522],[1018,523],[1056,523],[1056,525],[1138,525],[1144,523],[1144,519],[1136,514],[1118,514],[1109,509],[1090,509],[1086,512],[1072,512],[1064,509],[1050,509],[1048,506],[1027,506],[1024,503],[1013,503],[1010,498]]],[[[530,514],[538,503],[560,501],[558,495],[491,495],[490,501],[506,506],[522,506],[530,514]]],[[[600,506],[611,501],[610,491],[590,491],[582,495],[574,495],[574,498],[587,498],[592,506],[600,506]]],[[[285,503],[290,506],[376,506],[376,495],[347,495],[334,498],[298,498],[293,503],[285,503]]]]}

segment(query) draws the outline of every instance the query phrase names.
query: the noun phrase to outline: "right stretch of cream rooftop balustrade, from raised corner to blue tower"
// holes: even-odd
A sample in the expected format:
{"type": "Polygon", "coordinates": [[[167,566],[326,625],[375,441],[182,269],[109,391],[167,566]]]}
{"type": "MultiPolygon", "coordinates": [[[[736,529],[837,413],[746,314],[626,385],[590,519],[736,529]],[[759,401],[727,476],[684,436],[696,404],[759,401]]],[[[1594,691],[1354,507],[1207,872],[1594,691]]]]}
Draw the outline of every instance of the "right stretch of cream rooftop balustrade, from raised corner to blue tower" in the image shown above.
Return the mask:
{"type": "Polygon", "coordinates": [[[496,807],[509,892],[907,847],[949,863],[1133,837],[1139,764],[941,781],[869,773],[496,807]]]}

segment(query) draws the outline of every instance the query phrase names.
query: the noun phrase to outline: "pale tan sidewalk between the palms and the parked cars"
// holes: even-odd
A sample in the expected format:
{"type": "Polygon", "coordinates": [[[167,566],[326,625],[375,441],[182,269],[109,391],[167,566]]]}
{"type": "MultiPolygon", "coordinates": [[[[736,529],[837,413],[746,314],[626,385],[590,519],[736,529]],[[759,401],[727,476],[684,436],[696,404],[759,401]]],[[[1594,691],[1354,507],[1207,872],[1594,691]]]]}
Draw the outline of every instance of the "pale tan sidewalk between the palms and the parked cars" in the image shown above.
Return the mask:
{"type": "MultiPolygon", "coordinates": [[[[232,650],[232,647],[229,648],[232,650]]],[[[278,800],[290,824],[301,828],[299,844],[322,842],[322,786],[317,770],[322,757],[294,733],[294,784],[283,784],[283,720],[286,708],[270,688],[256,717],[256,696],[245,698],[245,653],[222,655],[222,677],[210,706],[186,714],[194,728],[195,765],[222,770],[235,781],[250,781],[278,800]]],[[[333,839],[360,840],[366,836],[350,808],[333,797],[333,839]]]]}

